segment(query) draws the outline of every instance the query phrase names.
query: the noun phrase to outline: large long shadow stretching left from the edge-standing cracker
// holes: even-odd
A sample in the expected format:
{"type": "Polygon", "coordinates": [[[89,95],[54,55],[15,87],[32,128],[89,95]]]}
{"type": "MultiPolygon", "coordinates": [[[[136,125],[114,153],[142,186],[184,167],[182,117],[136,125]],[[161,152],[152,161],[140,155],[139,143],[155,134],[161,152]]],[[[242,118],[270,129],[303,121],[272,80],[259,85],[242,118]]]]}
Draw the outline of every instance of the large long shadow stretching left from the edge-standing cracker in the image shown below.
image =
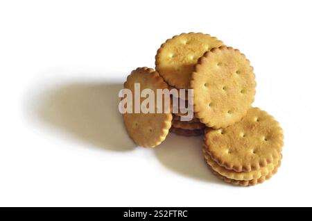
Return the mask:
{"type": "Polygon", "coordinates": [[[35,115],[94,147],[127,151],[136,145],[128,137],[118,110],[120,83],[71,83],[41,95],[35,115]]]}

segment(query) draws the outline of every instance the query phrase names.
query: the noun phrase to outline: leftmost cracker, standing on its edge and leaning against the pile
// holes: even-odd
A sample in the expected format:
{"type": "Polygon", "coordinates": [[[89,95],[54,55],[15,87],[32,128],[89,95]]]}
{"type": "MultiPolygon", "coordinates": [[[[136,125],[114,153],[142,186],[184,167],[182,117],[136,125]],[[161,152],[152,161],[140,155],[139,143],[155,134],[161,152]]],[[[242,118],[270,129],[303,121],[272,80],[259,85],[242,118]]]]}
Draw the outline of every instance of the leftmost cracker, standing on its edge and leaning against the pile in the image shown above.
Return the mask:
{"type": "MultiPolygon", "coordinates": [[[[123,88],[132,90],[135,95],[135,83],[140,83],[140,89],[168,88],[167,83],[153,69],[139,67],[131,72],[123,88]]],[[[142,101],[142,100],[141,100],[142,101]]],[[[156,108],[156,107],[155,107],[156,108]]],[[[171,127],[171,113],[125,113],[123,122],[132,140],[141,147],[155,147],[159,145],[167,136],[171,127]]]]}

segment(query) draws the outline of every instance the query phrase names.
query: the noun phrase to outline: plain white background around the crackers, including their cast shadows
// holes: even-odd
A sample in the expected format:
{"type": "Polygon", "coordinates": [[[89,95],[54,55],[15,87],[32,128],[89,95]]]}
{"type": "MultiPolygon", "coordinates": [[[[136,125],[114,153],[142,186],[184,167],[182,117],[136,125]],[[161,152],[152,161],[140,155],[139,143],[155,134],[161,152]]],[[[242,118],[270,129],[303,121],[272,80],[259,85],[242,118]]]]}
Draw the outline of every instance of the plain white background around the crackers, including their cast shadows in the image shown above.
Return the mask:
{"type": "Polygon", "coordinates": [[[312,206],[311,1],[0,1],[0,206],[312,206]],[[201,139],[135,147],[117,111],[167,38],[209,33],[254,67],[284,128],[265,183],[214,177],[201,139]]]}

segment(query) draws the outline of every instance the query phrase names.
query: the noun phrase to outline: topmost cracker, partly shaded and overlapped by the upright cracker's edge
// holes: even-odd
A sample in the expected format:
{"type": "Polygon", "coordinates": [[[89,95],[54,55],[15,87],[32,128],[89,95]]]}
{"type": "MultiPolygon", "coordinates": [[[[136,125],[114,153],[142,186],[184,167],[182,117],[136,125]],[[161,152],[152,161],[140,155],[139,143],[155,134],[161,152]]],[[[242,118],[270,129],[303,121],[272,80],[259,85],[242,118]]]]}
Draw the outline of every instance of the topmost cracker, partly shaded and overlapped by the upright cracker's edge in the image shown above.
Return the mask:
{"type": "Polygon", "coordinates": [[[223,42],[203,33],[182,33],[166,40],[156,54],[156,70],[175,88],[189,88],[198,58],[223,42]]]}

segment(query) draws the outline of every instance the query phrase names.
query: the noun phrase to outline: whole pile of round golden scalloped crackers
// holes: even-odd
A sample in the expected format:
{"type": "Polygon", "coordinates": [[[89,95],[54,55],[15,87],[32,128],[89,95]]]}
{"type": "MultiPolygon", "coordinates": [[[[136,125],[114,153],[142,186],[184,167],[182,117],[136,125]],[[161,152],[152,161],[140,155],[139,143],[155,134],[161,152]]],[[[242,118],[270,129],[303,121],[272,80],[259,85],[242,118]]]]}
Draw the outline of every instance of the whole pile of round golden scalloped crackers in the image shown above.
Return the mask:
{"type": "Polygon", "coordinates": [[[238,49],[203,33],[182,33],[166,40],[155,57],[155,70],[132,71],[124,88],[186,89],[194,117],[177,113],[124,113],[125,127],[137,145],[156,147],[168,132],[203,136],[202,153],[217,177],[237,186],[270,179],[281,164],[284,136],[279,123],[252,107],[256,81],[250,61],[238,49]],[[190,90],[191,89],[191,90],[190,90]]]}

